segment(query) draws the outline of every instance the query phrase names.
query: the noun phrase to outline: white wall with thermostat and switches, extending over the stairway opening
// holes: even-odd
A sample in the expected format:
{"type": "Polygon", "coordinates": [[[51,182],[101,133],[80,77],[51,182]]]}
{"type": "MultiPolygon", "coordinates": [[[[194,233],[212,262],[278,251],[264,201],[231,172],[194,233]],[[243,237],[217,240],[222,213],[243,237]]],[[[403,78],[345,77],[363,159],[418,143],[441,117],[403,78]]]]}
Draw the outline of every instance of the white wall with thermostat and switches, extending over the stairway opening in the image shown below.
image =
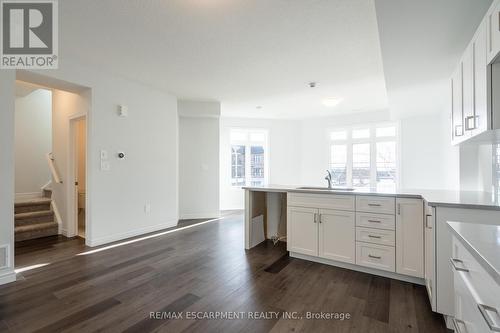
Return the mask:
{"type": "Polygon", "coordinates": [[[95,246],[177,224],[178,116],[174,96],[68,62],[61,62],[59,70],[20,75],[24,81],[38,80],[69,89],[76,84],[88,87],[88,94],[91,91],[87,244],[95,246]],[[128,106],[128,117],[117,116],[120,104],[128,106]],[[101,149],[109,153],[110,171],[100,170],[101,149]],[[117,159],[119,151],[126,153],[125,160],[117,159]],[[146,213],[146,204],[151,206],[150,213],[146,213]]]}

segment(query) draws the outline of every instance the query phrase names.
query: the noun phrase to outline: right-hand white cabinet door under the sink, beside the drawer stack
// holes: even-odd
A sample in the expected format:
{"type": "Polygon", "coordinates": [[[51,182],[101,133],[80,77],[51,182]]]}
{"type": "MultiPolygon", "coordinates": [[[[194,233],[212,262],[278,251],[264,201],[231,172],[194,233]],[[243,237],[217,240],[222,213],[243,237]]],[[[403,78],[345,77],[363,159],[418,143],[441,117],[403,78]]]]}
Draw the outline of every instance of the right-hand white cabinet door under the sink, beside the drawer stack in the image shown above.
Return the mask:
{"type": "Polygon", "coordinates": [[[355,253],[355,213],[319,210],[319,256],[353,264],[355,253]]]}

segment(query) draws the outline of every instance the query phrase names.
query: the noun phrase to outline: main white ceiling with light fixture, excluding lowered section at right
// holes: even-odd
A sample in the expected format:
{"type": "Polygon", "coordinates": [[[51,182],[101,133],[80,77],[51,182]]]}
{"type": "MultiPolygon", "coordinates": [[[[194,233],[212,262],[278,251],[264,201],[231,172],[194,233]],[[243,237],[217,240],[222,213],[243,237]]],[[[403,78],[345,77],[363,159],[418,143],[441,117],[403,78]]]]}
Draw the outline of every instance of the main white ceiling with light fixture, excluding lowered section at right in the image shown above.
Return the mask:
{"type": "Polygon", "coordinates": [[[224,115],[299,118],[387,108],[370,0],[59,6],[62,62],[74,58],[184,99],[221,101],[224,115]],[[329,109],[321,104],[327,97],[343,101],[329,109]]]}

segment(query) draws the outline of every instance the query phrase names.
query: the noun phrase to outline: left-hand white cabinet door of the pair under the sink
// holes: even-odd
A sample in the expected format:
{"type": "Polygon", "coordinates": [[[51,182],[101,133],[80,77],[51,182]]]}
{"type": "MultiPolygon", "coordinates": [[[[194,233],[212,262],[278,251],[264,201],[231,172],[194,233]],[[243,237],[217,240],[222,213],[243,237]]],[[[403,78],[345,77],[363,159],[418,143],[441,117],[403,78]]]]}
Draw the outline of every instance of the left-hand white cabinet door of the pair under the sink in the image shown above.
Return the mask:
{"type": "Polygon", "coordinates": [[[318,209],[288,206],[287,213],[288,251],[317,256],[318,209]]]}

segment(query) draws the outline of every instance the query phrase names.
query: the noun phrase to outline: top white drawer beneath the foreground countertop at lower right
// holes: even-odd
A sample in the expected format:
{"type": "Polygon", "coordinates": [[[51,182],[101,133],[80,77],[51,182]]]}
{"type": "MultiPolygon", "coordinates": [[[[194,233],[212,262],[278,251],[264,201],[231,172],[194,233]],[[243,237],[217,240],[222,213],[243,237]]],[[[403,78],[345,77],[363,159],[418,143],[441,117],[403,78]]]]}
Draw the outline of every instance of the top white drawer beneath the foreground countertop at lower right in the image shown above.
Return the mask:
{"type": "MultiPolygon", "coordinates": [[[[477,303],[485,304],[497,309],[500,313],[500,285],[477,262],[472,254],[456,237],[453,237],[452,270],[454,274],[462,275],[468,287],[473,289],[477,303]],[[459,261],[457,261],[459,260],[459,261]]],[[[492,316],[495,316],[492,314],[492,316]]],[[[495,318],[500,324],[500,315],[495,318]]]]}

